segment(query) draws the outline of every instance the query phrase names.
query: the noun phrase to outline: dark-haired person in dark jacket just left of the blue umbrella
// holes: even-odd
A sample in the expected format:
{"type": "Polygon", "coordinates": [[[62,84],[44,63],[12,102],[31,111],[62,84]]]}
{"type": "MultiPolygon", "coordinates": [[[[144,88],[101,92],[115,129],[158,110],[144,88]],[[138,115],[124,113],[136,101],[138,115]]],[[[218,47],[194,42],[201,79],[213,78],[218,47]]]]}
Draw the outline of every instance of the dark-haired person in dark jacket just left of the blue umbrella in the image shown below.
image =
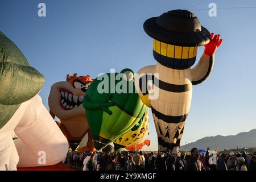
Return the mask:
{"type": "Polygon", "coordinates": [[[204,165],[199,159],[197,148],[192,148],[191,158],[187,160],[185,171],[205,171],[204,165]]]}

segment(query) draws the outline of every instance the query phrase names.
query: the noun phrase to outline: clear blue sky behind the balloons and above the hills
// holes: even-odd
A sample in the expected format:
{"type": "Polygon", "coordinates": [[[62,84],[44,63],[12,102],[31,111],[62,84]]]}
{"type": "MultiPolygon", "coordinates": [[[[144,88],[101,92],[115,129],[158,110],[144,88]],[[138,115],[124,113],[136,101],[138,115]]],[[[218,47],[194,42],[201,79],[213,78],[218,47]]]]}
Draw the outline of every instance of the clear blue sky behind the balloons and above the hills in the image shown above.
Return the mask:
{"type": "MultiPolygon", "coordinates": [[[[167,0],[41,0],[0,1],[0,30],[22,50],[45,77],[40,92],[48,109],[50,87],[66,75],[91,75],[138,69],[155,64],[152,39],[143,22],[197,1],[167,0]],[[38,3],[46,3],[47,16],[39,18],[38,3]]],[[[256,128],[256,24],[255,9],[219,9],[256,6],[255,1],[205,1],[191,8],[201,24],[224,39],[216,52],[212,75],[193,87],[191,110],[181,144],[214,135],[233,135],[256,128]],[[217,17],[208,5],[217,5],[217,17]],[[204,10],[201,10],[204,9],[204,10]]],[[[197,61],[203,52],[199,48],[197,61]]],[[[151,146],[157,146],[150,115],[151,146]]],[[[145,148],[146,149],[146,148],[145,148]]]]}

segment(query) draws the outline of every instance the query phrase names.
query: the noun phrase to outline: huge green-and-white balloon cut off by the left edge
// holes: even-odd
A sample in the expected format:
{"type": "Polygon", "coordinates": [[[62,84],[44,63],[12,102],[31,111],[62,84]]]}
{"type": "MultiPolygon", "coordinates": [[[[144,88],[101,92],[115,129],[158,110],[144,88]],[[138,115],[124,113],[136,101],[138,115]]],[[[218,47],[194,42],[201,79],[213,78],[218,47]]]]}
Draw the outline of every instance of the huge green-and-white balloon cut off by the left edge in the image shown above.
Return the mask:
{"type": "Polygon", "coordinates": [[[38,95],[43,75],[2,32],[0,60],[0,170],[61,162],[68,142],[38,95]],[[39,155],[47,156],[46,163],[38,162],[39,155]]]}

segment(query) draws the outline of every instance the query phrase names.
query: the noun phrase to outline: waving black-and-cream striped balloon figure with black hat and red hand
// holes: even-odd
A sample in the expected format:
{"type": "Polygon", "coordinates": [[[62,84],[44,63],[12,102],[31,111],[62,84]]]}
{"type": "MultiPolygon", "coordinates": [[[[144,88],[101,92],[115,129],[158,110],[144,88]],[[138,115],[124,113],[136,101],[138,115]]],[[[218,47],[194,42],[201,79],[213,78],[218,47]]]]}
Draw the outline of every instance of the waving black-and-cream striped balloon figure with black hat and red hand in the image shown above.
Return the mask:
{"type": "Polygon", "coordinates": [[[187,10],[172,10],[147,19],[143,28],[153,38],[157,63],[139,69],[135,86],[143,103],[152,109],[158,149],[177,152],[191,105],[192,85],[200,84],[212,72],[214,53],[222,39],[210,34],[187,10]],[[199,46],[205,46],[204,53],[191,68],[199,46]],[[152,80],[154,93],[147,88],[148,80],[152,80]]]}

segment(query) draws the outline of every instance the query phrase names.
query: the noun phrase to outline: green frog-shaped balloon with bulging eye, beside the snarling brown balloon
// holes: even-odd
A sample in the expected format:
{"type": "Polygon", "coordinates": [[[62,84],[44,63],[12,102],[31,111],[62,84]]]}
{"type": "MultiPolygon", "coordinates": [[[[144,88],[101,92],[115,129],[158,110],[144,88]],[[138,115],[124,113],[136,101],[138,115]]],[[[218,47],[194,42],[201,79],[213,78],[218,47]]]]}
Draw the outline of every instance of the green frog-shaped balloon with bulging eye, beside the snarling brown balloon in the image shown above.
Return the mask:
{"type": "Polygon", "coordinates": [[[133,77],[131,69],[106,73],[86,91],[82,105],[97,150],[131,130],[147,109],[135,91],[133,77]]]}

